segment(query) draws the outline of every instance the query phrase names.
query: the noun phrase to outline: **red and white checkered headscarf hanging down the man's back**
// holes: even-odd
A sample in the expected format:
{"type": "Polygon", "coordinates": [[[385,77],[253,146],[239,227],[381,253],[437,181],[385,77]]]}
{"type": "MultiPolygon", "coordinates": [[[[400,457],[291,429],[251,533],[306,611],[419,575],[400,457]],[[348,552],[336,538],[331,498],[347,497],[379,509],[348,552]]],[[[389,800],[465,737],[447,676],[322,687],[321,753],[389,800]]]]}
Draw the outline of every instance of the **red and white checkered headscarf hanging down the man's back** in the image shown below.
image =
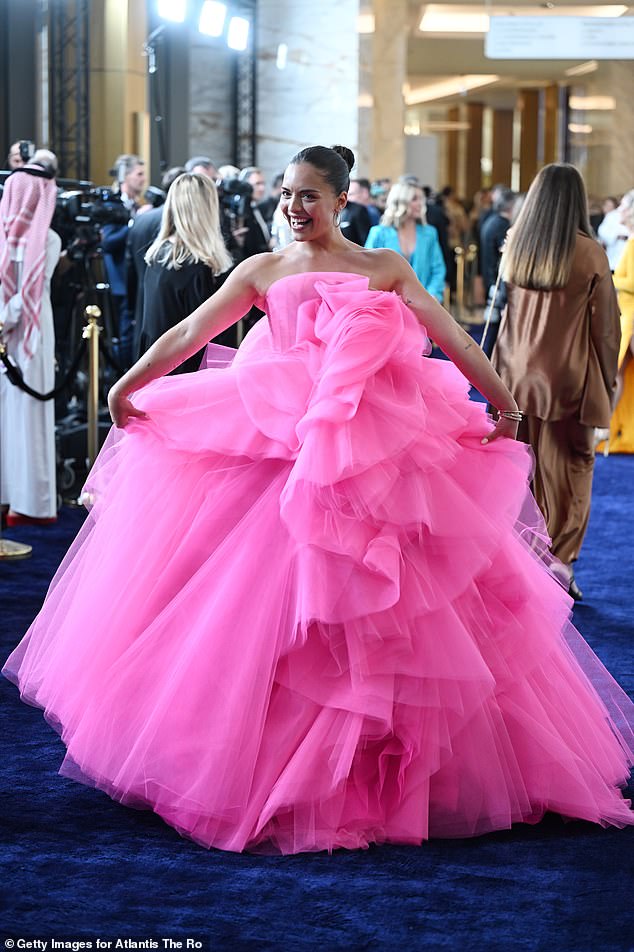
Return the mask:
{"type": "Polygon", "coordinates": [[[46,236],[56,197],[54,179],[20,170],[7,179],[0,201],[0,304],[6,304],[19,292],[27,356],[32,356],[30,343],[40,327],[46,236]],[[23,261],[22,281],[18,288],[14,262],[20,257],[23,261]]]}

